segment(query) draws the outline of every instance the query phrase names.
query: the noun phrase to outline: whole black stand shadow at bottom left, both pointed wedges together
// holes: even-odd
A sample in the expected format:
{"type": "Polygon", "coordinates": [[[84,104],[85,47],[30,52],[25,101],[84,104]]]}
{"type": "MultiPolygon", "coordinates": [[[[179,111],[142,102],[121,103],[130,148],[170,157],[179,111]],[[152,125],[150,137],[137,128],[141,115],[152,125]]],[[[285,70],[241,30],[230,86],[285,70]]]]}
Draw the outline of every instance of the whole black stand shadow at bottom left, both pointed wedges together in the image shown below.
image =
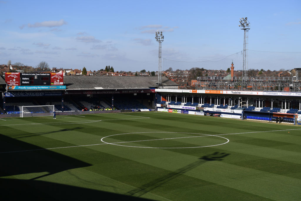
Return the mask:
{"type": "MultiPolygon", "coordinates": [[[[88,167],[91,164],[1,134],[0,159],[0,177],[2,177],[0,178],[0,200],[142,200],[101,190],[37,181],[36,179],[41,177],[73,168],[88,167]],[[36,151],[8,152],[8,150],[36,151]],[[37,173],[43,175],[30,178],[31,174],[37,175],[37,173]],[[3,178],[21,174],[29,179],[3,178]]],[[[106,187],[115,188],[114,186],[106,187]]]]}

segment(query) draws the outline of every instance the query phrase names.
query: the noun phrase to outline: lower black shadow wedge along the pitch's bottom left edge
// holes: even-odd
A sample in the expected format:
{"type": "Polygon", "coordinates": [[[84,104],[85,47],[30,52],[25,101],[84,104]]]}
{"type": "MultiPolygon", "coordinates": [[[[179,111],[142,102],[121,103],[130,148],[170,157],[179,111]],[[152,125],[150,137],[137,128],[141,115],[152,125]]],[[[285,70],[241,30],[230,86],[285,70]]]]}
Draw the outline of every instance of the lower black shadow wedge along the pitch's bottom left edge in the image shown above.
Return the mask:
{"type": "Polygon", "coordinates": [[[101,190],[45,181],[0,179],[0,199],[9,200],[147,200],[101,190]]]}

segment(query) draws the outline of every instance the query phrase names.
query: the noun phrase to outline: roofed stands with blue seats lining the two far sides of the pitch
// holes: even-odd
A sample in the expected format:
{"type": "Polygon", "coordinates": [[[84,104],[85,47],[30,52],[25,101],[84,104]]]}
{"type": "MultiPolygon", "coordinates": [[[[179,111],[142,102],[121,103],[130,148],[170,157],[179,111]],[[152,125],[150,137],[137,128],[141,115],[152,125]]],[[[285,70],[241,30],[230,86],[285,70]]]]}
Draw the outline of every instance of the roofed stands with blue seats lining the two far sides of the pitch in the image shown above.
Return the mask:
{"type": "MultiPolygon", "coordinates": [[[[162,77],[162,85],[158,86],[154,76],[64,76],[62,86],[5,86],[7,83],[2,77],[0,111],[2,117],[20,113],[45,115],[49,111],[32,106],[54,105],[58,115],[156,110],[267,122],[281,117],[284,123],[301,124],[298,91],[200,89],[202,79],[197,80],[195,89],[181,90],[166,77],[162,77]],[[22,106],[30,107],[24,110],[22,106]]],[[[213,86],[211,80],[206,81],[213,86]]]]}

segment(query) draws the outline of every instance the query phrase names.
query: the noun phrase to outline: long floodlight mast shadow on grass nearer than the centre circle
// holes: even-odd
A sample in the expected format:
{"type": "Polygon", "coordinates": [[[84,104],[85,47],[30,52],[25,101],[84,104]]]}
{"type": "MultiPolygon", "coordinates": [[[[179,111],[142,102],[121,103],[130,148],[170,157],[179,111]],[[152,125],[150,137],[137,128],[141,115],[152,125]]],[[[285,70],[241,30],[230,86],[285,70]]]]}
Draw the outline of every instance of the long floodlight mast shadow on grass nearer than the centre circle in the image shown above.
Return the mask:
{"type": "Polygon", "coordinates": [[[230,154],[214,152],[213,154],[202,156],[196,162],[190,163],[180,169],[177,169],[177,170],[165,175],[164,177],[157,178],[147,184],[144,184],[134,190],[131,190],[131,191],[127,192],[126,195],[140,197],[140,196],[144,195],[145,193],[148,193],[151,190],[154,190],[157,187],[160,187],[161,185],[171,181],[172,179],[175,179],[176,177],[181,176],[182,174],[196,168],[199,165],[202,165],[203,163],[205,163],[207,161],[221,161],[223,158],[225,158],[228,155],[230,155],[230,154]]]}

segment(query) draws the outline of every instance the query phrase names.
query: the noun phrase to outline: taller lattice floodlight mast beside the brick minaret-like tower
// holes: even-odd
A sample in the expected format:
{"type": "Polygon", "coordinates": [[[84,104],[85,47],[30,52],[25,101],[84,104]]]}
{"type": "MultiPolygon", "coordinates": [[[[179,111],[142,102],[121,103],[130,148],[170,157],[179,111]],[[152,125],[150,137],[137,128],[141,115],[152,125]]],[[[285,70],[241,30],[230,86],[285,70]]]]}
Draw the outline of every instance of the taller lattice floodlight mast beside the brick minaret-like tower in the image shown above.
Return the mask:
{"type": "Polygon", "coordinates": [[[239,20],[239,25],[241,30],[244,30],[244,52],[243,52],[243,72],[242,72],[242,79],[243,81],[247,80],[248,77],[248,46],[249,46],[249,29],[250,29],[250,22],[247,17],[242,17],[239,20]]]}

